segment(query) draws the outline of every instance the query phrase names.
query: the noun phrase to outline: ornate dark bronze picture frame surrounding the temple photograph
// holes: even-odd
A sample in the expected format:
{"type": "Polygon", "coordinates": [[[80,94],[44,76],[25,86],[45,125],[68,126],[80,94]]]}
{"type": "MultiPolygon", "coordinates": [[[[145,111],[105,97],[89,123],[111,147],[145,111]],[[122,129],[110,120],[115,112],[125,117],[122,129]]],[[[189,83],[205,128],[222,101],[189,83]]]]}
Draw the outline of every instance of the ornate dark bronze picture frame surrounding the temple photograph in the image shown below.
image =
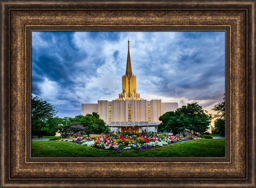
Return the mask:
{"type": "Polygon", "coordinates": [[[1,7],[1,187],[256,186],[254,1],[1,1],[1,7]],[[32,157],[36,32],[225,33],[225,156],[32,157]]]}

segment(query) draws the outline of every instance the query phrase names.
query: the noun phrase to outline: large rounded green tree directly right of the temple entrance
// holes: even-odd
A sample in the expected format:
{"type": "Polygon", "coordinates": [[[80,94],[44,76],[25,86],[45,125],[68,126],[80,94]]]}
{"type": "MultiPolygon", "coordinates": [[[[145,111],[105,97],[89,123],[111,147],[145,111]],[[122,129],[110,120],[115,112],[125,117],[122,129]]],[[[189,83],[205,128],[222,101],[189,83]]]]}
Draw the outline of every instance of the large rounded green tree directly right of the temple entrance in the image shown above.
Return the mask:
{"type": "Polygon", "coordinates": [[[189,129],[202,134],[209,129],[211,119],[211,114],[206,114],[200,105],[192,103],[161,115],[159,120],[162,123],[158,125],[158,130],[178,134],[189,129]]]}

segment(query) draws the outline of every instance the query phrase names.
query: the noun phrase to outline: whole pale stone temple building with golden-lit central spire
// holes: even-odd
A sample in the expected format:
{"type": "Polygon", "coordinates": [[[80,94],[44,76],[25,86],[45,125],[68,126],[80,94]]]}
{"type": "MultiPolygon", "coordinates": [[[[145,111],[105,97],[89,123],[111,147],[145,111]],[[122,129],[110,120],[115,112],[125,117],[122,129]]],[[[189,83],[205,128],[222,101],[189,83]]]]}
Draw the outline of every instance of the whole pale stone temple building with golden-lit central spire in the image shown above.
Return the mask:
{"type": "Polygon", "coordinates": [[[119,98],[112,101],[98,100],[97,104],[82,104],[81,115],[97,112],[110,126],[110,130],[115,132],[156,132],[157,125],[161,123],[159,116],[167,111],[175,111],[178,103],[161,103],[161,99],[148,101],[140,98],[136,90],[136,76],[132,74],[129,43],[128,40],[126,73],[122,76],[119,98]]]}

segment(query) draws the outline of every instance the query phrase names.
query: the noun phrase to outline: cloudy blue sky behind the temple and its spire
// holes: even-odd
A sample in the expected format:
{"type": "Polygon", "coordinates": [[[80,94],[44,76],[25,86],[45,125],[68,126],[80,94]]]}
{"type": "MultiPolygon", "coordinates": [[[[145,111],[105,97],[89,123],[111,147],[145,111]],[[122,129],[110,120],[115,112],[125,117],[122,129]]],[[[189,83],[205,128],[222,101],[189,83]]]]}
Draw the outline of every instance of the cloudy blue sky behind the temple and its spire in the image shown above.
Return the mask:
{"type": "Polygon", "coordinates": [[[141,98],[198,102],[213,113],[225,92],[224,32],[32,32],[32,94],[61,118],[80,115],[82,103],[115,100],[128,37],[141,98]]]}

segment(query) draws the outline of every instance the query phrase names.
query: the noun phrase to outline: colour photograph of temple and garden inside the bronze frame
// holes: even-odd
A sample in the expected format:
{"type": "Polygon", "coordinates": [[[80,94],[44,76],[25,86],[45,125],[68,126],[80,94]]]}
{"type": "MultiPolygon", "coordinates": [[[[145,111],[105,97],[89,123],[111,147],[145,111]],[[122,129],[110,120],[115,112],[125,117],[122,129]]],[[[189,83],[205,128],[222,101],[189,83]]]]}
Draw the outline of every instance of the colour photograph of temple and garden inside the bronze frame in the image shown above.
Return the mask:
{"type": "MultiPolygon", "coordinates": [[[[28,129],[27,136],[30,133],[54,136],[58,126],[65,138],[61,143],[52,140],[42,143],[38,141],[46,138],[33,136],[31,157],[225,157],[224,130],[204,135],[205,138],[211,138],[220,133],[221,137],[213,137],[221,138],[218,140],[200,139],[199,136],[205,131],[211,133],[209,124],[217,118],[212,119],[209,114],[216,114],[213,108],[224,98],[225,49],[228,51],[230,46],[227,44],[225,48],[225,37],[229,36],[229,30],[219,27],[212,28],[214,31],[200,29],[38,32],[31,28],[28,40],[32,41],[32,52],[28,60],[31,60],[32,75],[28,75],[28,78],[32,78],[32,131],[28,129]],[[131,91],[128,91],[129,88],[132,88],[131,91]],[[48,118],[46,124],[41,124],[37,118],[41,114],[41,111],[37,113],[38,107],[33,105],[38,102],[37,96],[52,104],[57,111],[56,116],[48,118]],[[160,124],[160,119],[178,108],[183,111],[191,108],[193,114],[201,119],[201,124],[199,121],[192,122],[193,126],[186,130],[183,126],[183,130],[173,126],[169,126],[168,130],[163,128],[165,125],[160,124]],[[88,121],[93,113],[98,113],[103,120],[101,126],[95,127],[92,121],[88,121]],[[69,127],[70,122],[72,125],[69,129],[73,130],[75,126],[73,131],[76,133],[63,128],[69,127]],[[41,129],[49,128],[49,131],[38,131],[38,126],[41,129]],[[78,133],[78,130],[83,133],[78,133]],[[192,131],[200,133],[195,135],[192,131]],[[120,140],[121,135],[124,137],[120,140]],[[156,149],[158,146],[192,139],[199,144],[193,145],[193,151],[190,150],[193,148],[191,146],[186,148],[183,145],[186,149],[181,149],[179,144],[175,144],[179,154],[171,147],[168,150],[166,147],[161,148],[155,153],[151,150],[149,153],[137,154],[144,149],[156,149]],[[122,141],[126,143],[122,144],[122,141]],[[70,142],[98,149],[87,150],[86,146],[76,144],[80,149],[74,150],[73,145],[66,145],[70,142]],[[61,148],[65,150],[61,151],[61,148]],[[114,153],[109,153],[109,150],[114,150],[114,153]],[[126,150],[129,151],[116,152],[126,150]]],[[[30,44],[27,46],[29,48],[30,44]]],[[[229,64],[226,64],[228,67],[229,64]]],[[[223,119],[218,121],[225,128],[224,106],[221,114],[223,119]]],[[[183,121],[184,116],[174,116],[173,124],[179,128],[181,125],[176,123],[176,119],[183,121]]],[[[182,124],[189,123],[183,121],[182,124]]],[[[226,140],[229,148],[228,137],[226,140]]]]}

